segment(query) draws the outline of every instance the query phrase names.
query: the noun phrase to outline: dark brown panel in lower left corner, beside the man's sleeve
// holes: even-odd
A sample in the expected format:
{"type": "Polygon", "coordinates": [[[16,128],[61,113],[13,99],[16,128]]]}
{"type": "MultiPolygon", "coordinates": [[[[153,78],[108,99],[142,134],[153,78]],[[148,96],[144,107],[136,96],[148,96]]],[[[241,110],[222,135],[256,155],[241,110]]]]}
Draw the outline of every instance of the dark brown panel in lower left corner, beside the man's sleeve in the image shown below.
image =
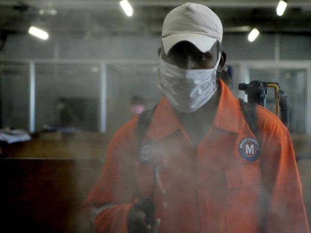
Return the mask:
{"type": "Polygon", "coordinates": [[[0,159],[1,232],[91,233],[82,202],[102,166],[99,160],[0,159]]]}

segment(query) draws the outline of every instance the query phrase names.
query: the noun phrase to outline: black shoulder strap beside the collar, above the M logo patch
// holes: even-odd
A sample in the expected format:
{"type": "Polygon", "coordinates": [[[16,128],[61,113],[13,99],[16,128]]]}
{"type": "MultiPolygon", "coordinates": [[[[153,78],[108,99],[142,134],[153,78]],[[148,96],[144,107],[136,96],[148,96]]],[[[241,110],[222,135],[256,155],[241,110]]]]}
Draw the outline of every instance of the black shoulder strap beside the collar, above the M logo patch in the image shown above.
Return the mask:
{"type": "Polygon", "coordinates": [[[257,112],[256,112],[257,104],[245,102],[241,98],[239,98],[239,101],[243,115],[249,128],[255,134],[255,136],[257,136],[258,133],[257,112]]]}

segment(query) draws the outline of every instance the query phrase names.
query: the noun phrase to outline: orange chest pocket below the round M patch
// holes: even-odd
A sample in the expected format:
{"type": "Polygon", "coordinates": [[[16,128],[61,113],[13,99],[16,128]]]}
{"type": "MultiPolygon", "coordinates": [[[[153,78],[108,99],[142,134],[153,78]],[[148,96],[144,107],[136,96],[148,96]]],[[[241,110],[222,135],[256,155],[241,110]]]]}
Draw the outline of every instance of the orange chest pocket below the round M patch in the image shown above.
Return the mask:
{"type": "Polygon", "coordinates": [[[225,171],[228,233],[259,233],[262,173],[259,163],[225,171]]]}

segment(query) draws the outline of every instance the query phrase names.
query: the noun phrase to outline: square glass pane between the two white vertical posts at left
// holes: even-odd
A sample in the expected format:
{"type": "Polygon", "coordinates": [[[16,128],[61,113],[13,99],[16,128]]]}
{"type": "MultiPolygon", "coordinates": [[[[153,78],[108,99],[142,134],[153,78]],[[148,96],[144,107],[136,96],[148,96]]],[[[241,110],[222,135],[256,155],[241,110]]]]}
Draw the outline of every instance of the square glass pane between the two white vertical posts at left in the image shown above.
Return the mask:
{"type": "Polygon", "coordinates": [[[98,131],[100,67],[86,64],[35,66],[35,129],[47,125],[98,131]]]}

